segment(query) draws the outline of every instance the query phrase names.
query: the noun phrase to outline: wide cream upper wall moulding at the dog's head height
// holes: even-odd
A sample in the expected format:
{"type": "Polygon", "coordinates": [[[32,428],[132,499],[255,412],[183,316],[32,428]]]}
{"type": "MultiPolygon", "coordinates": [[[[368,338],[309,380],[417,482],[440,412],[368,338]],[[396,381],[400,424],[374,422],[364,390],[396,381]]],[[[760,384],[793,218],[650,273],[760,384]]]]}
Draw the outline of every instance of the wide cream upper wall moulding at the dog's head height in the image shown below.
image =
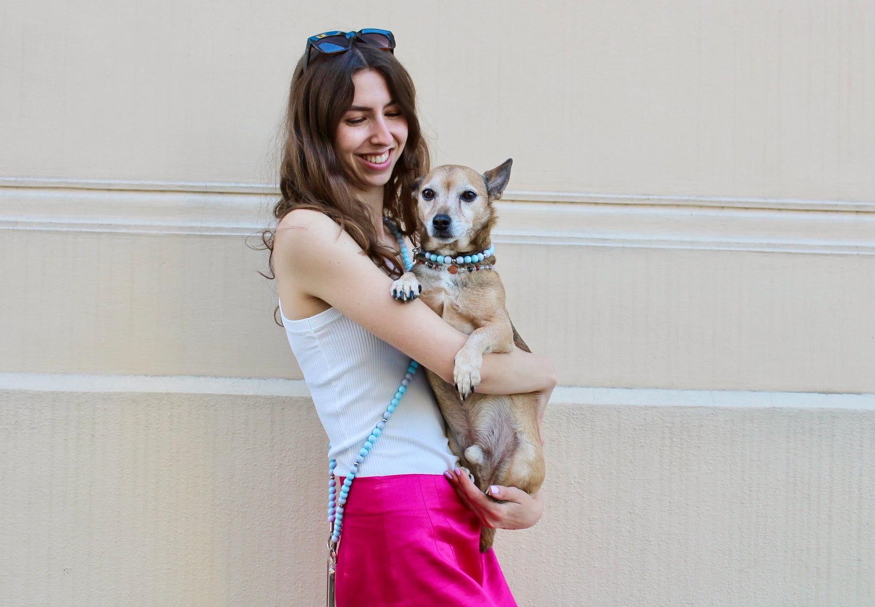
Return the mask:
{"type": "MultiPolygon", "coordinates": [[[[248,236],[257,193],[0,188],[0,229],[248,236]]],[[[496,203],[498,243],[875,255],[875,213],[715,206],[496,203]]]]}

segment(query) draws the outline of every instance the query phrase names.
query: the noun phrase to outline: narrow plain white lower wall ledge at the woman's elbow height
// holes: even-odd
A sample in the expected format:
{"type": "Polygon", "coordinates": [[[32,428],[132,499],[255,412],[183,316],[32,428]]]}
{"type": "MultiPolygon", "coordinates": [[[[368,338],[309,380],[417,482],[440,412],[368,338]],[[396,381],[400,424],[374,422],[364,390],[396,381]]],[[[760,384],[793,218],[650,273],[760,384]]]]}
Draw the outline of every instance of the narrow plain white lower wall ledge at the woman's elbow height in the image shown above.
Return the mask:
{"type": "MultiPolygon", "coordinates": [[[[180,375],[0,373],[0,390],[310,397],[304,380],[180,375]]],[[[875,411],[875,394],[560,386],[553,391],[550,403],[570,406],[826,408],[875,411]]]]}

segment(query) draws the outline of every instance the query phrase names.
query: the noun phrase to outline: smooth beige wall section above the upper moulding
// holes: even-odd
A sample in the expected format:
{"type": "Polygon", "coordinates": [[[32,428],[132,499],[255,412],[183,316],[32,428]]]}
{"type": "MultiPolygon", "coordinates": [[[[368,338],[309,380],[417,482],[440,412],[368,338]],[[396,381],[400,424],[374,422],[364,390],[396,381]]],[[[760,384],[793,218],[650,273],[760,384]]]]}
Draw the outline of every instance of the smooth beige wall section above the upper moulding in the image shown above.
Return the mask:
{"type": "Polygon", "coordinates": [[[307,36],[385,27],[437,160],[514,189],[872,200],[875,3],[7,3],[5,177],[272,183],[307,36]]]}

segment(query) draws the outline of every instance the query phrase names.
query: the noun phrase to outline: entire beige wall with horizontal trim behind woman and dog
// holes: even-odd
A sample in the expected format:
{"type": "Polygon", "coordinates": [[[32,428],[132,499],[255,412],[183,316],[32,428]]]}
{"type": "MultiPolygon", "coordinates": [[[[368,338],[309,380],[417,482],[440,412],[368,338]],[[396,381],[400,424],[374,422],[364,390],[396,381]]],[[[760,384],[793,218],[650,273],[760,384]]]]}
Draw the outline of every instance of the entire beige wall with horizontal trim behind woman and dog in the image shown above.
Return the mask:
{"type": "Polygon", "coordinates": [[[514,157],[499,269],[566,386],[520,604],[871,605],[850,0],[4,7],[0,603],[318,602],[324,436],[245,239],[304,39],[369,26],[437,163],[514,157]]]}

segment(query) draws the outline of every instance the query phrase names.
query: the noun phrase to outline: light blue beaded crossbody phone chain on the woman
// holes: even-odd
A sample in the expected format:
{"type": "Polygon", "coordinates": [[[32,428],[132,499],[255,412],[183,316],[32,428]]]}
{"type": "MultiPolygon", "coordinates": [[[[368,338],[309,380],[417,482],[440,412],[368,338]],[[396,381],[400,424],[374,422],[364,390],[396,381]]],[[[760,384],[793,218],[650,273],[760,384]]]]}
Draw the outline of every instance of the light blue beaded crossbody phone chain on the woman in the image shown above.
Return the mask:
{"type": "MultiPolygon", "coordinates": [[[[407,246],[404,244],[404,237],[391,220],[384,218],[383,221],[386,222],[386,226],[392,231],[392,234],[395,234],[395,240],[398,241],[398,246],[401,248],[404,269],[409,271],[409,269],[413,267],[413,260],[410,259],[407,246]]],[[[359,450],[359,455],[355,457],[353,465],[351,465],[349,471],[346,472],[346,478],[343,481],[343,485],[340,486],[339,493],[337,491],[337,481],[334,478],[334,469],[337,467],[337,462],[331,458],[328,459],[329,538],[327,607],[335,607],[334,582],[337,574],[337,549],[340,542],[340,532],[343,530],[344,506],[346,506],[346,499],[349,497],[349,489],[353,486],[353,479],[359,473],[360,466],[365,461],[365,457],[367,457],[367,454],[374,447],[374,443],[380,438],[383,430],[386,429],[386,423],[392,418],[392,414],[395,413],[395,408],[401,404],[401,401],[404,398],[404,393],[407,392],[407,387],[410,385],[410,381],[413,380],[413,376],[416,374],[416,369],[418,367],[419,363],[415,360],[410,360],[410,363],[407,366],[407,373],[404,373],[404,378],[401,380],[401,385],[395,390],[395,396],[392,397],[392,401],[389,402],[388,407],[383,411],[381,420],[377,422],[374,429],[371,430],[370,435],[367,436],[365,443],[359,450]]],[[[331,449],[331,443],[328,443],[328,449],[331,449]]]]}

